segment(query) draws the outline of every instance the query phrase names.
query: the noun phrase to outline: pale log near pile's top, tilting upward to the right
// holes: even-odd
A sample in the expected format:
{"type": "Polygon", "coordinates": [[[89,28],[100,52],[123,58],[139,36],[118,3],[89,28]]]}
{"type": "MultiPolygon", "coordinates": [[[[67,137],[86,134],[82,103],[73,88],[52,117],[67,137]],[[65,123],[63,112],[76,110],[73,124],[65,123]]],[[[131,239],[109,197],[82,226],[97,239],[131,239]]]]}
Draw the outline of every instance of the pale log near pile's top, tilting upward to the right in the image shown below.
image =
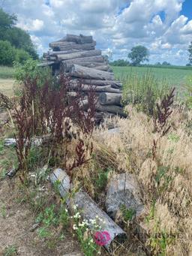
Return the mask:
{"type": "Polygon", "coordinates": [[[89,50],[89,51],[78,52],[78,53],[69,53],[69,54],[55,54],[55,58],[60,61],[68,60],[68,59],[92,57],[92,56],[101,56],[101,50],[89,50]]]}

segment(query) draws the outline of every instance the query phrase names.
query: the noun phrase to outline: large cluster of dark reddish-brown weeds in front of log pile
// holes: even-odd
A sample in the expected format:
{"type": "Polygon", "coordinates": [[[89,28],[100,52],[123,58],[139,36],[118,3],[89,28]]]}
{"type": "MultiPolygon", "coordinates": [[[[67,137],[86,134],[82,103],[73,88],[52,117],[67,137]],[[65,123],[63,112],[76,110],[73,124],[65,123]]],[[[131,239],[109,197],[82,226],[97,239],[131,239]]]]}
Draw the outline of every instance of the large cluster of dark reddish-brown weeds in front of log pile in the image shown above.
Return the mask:
{"type": "Polygon", "coordinates": [[[95,125],[97,98],[94,88],[90,86],[85,100],[83,84],[79,82],[74,89],[71,79],[65,75],[47,77],[42,83],[39,80],[38,76],[26,77],[23,80],[20,97],[13,103],[9,98],[0,95],[0,104],[10,111],[16,128],[16,151],[22,182],[28,178],[27,158],[33,137],[48,135],[46,146],[49,148],[49,155],[52,158],[59,155],[64,158],[65,163],[68,161],[68,155],[71,155],[68,154],[68,144],[71,143],[72,137],[76,137],[74,155],[77,156],[73,164],[65,164],[71,176],[75,167],[89,161],[86,159],[86,150],[92,152],[92,143],[89,139],[95,125]],[[71,129],[73,126],[77,127],[76,134],[73,134],[71,129]],[[86,134],[86,143],[79,138],[80,133],[86,134]]]}

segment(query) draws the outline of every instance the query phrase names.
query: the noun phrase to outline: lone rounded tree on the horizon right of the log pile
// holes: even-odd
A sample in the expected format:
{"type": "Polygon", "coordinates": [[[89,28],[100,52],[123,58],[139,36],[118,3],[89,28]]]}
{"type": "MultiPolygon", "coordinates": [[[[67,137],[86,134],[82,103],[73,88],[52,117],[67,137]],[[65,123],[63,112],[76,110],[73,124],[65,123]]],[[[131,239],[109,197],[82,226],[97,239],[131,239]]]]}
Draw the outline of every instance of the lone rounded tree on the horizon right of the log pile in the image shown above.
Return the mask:
{"type": "Polygon", "coordinates": [[[148,62],[148,56],[148,49],[142,45],[133,47],[128,54],[128,58],[131,60],[132,65],[134,66],[140,65],[141,62],[148,62]]]}

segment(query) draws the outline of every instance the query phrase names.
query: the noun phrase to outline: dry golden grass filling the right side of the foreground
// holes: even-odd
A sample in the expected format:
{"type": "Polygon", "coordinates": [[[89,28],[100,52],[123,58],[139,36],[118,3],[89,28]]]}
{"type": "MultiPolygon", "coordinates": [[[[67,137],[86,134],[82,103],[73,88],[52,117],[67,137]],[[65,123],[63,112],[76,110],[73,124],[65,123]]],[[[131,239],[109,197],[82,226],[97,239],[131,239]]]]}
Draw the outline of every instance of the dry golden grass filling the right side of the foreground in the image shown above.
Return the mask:
{"type": "Polygon", "coordinates": [[[139,179],[153,254],[192,255],[192,111],[174,107],[172,128],[158,141],[155,159],[153,121],[132,107],[127,111],[129,119],[114,119],[119,132],[101,128],[95,140],[115,153],[118,171],[139,179]]]}

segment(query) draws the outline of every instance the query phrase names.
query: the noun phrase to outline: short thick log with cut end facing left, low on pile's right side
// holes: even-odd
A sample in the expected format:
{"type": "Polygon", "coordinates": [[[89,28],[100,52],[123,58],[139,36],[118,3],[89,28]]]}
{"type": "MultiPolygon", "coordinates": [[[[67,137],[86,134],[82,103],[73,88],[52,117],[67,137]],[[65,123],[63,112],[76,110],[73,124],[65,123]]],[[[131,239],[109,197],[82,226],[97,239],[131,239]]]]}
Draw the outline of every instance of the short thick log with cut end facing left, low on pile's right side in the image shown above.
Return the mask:
{"type": "Polygon", "coordinates": [[[99,96],[99,102],[102,105],[118,105],[121,106],[122,95],[119,93],[103,92],[99,96]]]}

